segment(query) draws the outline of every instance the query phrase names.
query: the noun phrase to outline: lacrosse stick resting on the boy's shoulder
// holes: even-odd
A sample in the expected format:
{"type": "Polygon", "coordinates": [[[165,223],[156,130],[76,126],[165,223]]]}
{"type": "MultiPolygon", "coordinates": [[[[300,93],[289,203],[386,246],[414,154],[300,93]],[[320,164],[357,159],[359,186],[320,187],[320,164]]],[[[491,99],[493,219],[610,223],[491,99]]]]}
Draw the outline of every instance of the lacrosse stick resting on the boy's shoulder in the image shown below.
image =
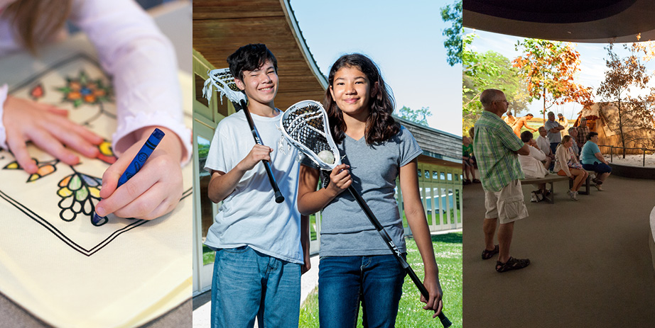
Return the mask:
{"type": "MultiPolygon", "coordinates": [[[[250,116],[250,112],[248,111],[248,106],[246,105],[248,102],[246,94],[237,88],[237,84],[234,83],[234,77],[232,77],[232,74],[229,73],[229,69],[212,69],[211,71],[207,72],[207,75],[209,78],[205,80],[205,86],[202,88],[202,95],[207,98],[207,101],[211,101],[212,86],[214,86],[216,90],[220,92],[219,98],[221,99],[221,103],[223,101],[222,96],[226,96],[229,101],[232,101],[234,109],[236,109],[237,112],[243,109],[255,143],[258,145],[264,145],[264,143],[261,142],[259,132],[257,132],[257,128],[255,128],[255,125],[250,116]]],[[[275,181],[275,177],[273,176],[273,171],[271,171],[271,165],[269,164],[269,161],[262,160],[261,162],[264,162],[266,175],[269,176],[269,182],[271,183],[273,191],[275,192],[275,202],[282,203],[284,201],[284,196],[282,196],[280,188],[278,188],[278,183],[275,181]]]]}

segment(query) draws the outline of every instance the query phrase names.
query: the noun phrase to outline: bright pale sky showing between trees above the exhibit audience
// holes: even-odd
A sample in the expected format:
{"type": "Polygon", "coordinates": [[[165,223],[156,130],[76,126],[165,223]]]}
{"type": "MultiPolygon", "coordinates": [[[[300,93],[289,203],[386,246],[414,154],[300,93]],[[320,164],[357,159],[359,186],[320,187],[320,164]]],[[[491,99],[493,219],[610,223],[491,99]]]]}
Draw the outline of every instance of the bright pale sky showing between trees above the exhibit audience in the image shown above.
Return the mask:
{"type": "MultiPolygon", "coordinates": [[[[514,45],[518,40],[523,40],[524,38],[519,38],[513,35],[504,35],[498,33],[490,33],[483,30],[473,30],[470,28],[465,28],[464,33],[475,32],[478,35],[477,38],[473,40],[473,50],[477,52],[486,52],[487,50],[493,50],[499,52],[500,54],[507,57],[509,60],[513,60],[517,56],[521,55],[519,51],[514,50],[514,45]]],[[[600,83],[605,79],[605,57],[607,55],[606,43],[575,43],[575,50],[580,52],[580,72],[576,76],[576,83],[583,84],[584,86],[591,86],[594,89],[595,101],[602,101],[602,98],[596,96],[596,89],[600,86],[600,83]]],[[[622,57],[627,55],[627,52],[623,50],[622,44],[617,44],[614,47],[615,51],[622,57]]],[[[655,68],[655,63],[649,62],[646,64],[646,68],[649,69],[649,72],[652,74],[653,69],[655,68]]],[[[578,113],[582,110],[582,105],[579,103],[566,103],[561,106],[553,106],[549,111],[555,113],[563,113],[565,118],[577,118],[578,113]]],[[[533,101],[529,106],[529,112],[534,114],[536,117],[541,117],[539,114],[543,108],[542,101],[533,101]]],[[[524,115],[526,112],[519,114],[519,116],[524,115]]]]}

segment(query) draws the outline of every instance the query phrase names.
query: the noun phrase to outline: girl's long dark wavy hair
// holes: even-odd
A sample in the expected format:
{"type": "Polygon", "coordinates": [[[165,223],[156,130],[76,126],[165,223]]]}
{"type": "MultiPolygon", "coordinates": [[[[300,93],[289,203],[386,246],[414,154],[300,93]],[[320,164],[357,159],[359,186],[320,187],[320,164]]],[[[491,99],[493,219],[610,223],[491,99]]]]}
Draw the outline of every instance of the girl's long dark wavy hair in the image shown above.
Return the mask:
{"type": "MultiPolygon", "coordinates": [[[[335,74],[342,67],[357,67],[371,84],[372,96],[370,99],[369,117],[366,122],[366,130],[364,131],[364,138],[368,145],[379,144],[389,140],[400,131],[400,124],[391,117],[396,102],[391,94],[391,89],[384,83],[382,74],[377,65],[369,58],[362,54],[350,54],[341,56],[330,68],[330,75],[327,77],[328,84],[332,87],[335,83],[335,74]],[[377,82],[377,88],[375,87],[377,82]]],[[[330,120],[330,127],[332,127],[332,137],[335,142],[341,143],[345,138],[345,131],[347,129],[343,120],[343,113],[337,107],[330,88],[325,90],[325,99],[323,106],[327,110],[327,117],[330,120]]]]}

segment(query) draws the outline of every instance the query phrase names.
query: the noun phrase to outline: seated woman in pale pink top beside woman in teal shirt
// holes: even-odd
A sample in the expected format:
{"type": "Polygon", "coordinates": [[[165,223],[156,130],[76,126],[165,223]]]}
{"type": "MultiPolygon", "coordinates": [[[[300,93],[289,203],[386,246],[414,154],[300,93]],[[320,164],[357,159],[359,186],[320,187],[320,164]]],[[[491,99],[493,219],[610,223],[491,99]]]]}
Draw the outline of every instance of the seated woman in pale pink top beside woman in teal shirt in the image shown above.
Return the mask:
{"type": "Polygon", "coordinates": [[[573,187],[566,193],[571,200],[578,200],[578,191],[589,174],[578,162],[578,157],[573,154],[572,145],[573,138],[570,135],[565,135],[555,151],[555,171],[558,176],[568,176],[573,179],[573,187]]]}

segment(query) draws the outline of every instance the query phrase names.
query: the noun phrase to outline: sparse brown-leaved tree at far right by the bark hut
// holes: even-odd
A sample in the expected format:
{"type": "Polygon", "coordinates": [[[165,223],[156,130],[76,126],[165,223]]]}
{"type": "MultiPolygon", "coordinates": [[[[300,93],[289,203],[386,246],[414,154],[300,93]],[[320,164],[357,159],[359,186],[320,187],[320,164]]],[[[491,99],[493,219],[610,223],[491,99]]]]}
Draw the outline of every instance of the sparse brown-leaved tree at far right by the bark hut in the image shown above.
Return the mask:
{"type": "Polygon", "coordinates": [[[653,117],[655,114],[655,88],[649,87],[650,74],[644,62],[649,60],[649,47],[646,44],[624,44],[626,57],[619,57],[610,43],[605,58],[605,80],[600,83],[597,95],[611,101],[618,109],[618,134],[625,157],[626,142],[639,142],[653,146],[655,133],[653,117]],[[632,91],[632,92],[631,92],[632,91]],[[643,129],[645,133],[628,133],[643,129]]]}

